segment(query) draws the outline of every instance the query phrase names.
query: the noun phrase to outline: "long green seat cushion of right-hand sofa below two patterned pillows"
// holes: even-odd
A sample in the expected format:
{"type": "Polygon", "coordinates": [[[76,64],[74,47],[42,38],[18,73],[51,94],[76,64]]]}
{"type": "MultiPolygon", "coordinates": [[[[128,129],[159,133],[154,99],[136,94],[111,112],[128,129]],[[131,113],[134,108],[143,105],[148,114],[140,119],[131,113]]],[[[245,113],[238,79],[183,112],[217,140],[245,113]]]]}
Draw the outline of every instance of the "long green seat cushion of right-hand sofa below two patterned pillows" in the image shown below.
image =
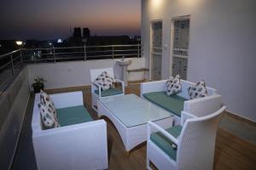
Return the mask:
{"type": "Polygon", "coordinates": [[[143,97],[177,116],[181,116],[184,101],[188,100],[178,95],[168,96],[166,92],[151,92],[148,94],[143,94],[143,97]]]}

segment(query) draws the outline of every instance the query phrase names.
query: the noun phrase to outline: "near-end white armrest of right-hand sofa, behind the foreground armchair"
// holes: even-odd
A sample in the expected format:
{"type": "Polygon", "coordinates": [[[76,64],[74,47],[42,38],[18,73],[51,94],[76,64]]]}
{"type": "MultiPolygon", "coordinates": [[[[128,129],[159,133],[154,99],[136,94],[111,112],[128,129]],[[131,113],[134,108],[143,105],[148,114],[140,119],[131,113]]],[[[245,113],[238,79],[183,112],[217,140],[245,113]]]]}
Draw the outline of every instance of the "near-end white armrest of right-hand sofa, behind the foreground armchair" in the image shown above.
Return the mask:
{"type": "Polygon", "coordinates": [[[204,98],[189,99],[184,102],[183,111],[189,112],[195,116],[206,116],[206,114],[218,111],[222,105],[222,97],[213,94],[204,98]]]}

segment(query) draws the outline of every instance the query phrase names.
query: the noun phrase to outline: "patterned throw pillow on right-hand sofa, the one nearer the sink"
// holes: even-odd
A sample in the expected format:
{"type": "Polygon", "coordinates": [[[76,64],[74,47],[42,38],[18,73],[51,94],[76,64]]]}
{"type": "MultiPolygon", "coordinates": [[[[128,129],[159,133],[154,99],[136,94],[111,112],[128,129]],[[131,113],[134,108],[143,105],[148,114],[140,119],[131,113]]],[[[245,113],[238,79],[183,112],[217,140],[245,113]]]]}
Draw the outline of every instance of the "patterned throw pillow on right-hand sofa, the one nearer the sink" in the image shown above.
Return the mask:
{"type": "Polygon", "coordinates": [[[166,82],[166,94],[167,95],[172,95],[172,94],[177,94],[181,91],[181,84],[180,84],[180,77],[177,75],[176,77],[171,77],[167,82],[166,82]]]}

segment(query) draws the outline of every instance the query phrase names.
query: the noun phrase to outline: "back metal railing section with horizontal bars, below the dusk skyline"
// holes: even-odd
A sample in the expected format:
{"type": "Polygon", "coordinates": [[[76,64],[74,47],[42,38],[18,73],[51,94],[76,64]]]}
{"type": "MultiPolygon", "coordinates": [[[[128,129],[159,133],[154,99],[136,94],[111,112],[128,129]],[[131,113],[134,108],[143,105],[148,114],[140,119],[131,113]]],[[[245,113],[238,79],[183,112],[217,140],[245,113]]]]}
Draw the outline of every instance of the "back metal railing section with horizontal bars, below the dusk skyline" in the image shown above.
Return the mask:
{"type": "Polygon", "coordinates": [[[80,47],[22,48],[25,63],[61,62],[87,59],[140,57],[141,45],[102,45],[80,47]]]}

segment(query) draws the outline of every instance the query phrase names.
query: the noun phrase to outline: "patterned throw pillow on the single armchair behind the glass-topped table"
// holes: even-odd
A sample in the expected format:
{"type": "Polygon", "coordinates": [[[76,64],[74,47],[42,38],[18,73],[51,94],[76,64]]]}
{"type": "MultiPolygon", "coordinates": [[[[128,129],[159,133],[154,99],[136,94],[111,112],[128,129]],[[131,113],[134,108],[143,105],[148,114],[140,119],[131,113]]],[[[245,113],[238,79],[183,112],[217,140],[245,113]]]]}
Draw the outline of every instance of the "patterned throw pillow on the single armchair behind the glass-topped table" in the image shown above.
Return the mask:
{"type": "Polygon", "coordinates": [[[102,72],[102,74],[98,76],[94,82],[101,85],[103,91],[108,90],[110,87],[114,86],[113,77],[110,77],[107,71],[102,72]]]}

